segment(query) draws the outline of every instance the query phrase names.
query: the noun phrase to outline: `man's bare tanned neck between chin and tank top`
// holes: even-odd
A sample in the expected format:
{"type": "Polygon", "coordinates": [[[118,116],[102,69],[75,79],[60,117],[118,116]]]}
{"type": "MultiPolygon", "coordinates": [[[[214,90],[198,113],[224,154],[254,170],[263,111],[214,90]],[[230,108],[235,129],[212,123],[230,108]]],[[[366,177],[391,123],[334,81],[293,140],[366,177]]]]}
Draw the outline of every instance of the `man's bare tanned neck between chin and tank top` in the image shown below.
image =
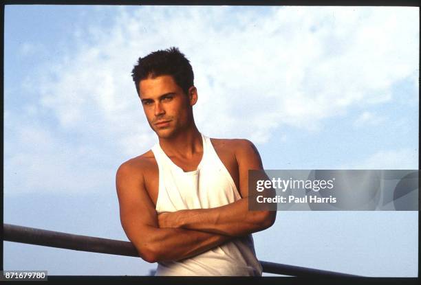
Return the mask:
{"type": "Polygon", "coordinates": [[[197,152],[203,152],[202,135],[196,126],[178,133],[174,137],[160,138],[160,146],[167,155],[176,157],[192,157],[197,152]]]}

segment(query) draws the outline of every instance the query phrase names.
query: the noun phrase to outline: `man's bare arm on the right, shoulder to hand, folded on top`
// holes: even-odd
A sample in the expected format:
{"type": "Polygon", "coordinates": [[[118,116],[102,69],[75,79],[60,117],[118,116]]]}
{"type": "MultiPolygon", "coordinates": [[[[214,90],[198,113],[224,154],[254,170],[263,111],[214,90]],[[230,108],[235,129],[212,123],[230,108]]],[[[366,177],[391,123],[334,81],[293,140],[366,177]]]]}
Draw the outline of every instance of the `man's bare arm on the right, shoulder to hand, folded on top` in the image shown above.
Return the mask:
{"type": "Polygon", "coordinates": [[[239,140],[235,156],[239,165],[242,198],[210,209],[186,209],[158,215],[160,227],[195,229],[228,236],[244,236],[270,227],[276,212],[248,210],[248,170],[263,169],[259,152],[250,141],[239,140]]]}

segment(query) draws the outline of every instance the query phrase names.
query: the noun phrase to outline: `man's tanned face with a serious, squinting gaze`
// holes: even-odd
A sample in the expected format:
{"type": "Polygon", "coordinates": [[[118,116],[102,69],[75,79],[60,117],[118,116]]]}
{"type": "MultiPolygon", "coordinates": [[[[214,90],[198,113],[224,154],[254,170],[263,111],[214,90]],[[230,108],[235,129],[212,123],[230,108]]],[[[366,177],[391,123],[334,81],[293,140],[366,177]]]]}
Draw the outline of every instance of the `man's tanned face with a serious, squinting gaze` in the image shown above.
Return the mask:
{"type": "Polygon", "coordinates": [[[191,106],[197,100],[195,87],[187,95],[172,76],[157,76],[140,80],[139,91],[149,126],[158,137],[172,137],[193,122],[191,106]]]}

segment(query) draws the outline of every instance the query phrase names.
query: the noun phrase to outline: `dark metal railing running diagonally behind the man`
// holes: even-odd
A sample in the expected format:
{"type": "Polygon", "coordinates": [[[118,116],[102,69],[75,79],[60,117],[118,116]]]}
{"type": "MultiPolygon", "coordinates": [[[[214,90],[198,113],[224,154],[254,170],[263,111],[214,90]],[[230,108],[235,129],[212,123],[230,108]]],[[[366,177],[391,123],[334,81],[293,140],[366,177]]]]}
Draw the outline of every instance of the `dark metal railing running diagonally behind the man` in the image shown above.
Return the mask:
{"type": "MultiPolygon", "coordinates": [[[[57,247],[60,249],[73,249],[76,251],[139,257],[136,247],[134,247],[131,242],[110,240],[107,238],[96,238],[92,236],[80,236],[72,233],[47,231],[45,229],[35,229],[33,227],[22,227],[18,225],[3,224],[3,240],[42,245],[44,247],[57,247]]],[[[259,262],[263,267],[263,272],[265,273],[296,277],[360,277],[358,275],[310,269],[307,267],[292,266],[261,260],[259,260],[259,262]]]]}

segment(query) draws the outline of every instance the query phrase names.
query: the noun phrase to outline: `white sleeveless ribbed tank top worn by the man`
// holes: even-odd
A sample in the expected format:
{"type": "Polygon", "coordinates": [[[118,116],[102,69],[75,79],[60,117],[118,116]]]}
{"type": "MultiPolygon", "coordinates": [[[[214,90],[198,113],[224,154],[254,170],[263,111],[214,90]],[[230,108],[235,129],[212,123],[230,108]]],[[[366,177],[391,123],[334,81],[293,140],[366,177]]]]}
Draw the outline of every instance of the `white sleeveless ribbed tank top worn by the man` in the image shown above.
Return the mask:
{"type": "MultiPolygon", "coordinates": [[[[158,163],[159,187],[156,212],[208,209],[241,198],[237,187],[219,159],[209,137],[202,135],[203,157],[197,170],[184,172],[157,143],[152,151],[158,163]]],[[[171,249],[170,249],[171,250],[171,249]]],[[[157,276],[261,276],[251,234],[235,238],[184,260],[158,262],[157,276]]]]}

